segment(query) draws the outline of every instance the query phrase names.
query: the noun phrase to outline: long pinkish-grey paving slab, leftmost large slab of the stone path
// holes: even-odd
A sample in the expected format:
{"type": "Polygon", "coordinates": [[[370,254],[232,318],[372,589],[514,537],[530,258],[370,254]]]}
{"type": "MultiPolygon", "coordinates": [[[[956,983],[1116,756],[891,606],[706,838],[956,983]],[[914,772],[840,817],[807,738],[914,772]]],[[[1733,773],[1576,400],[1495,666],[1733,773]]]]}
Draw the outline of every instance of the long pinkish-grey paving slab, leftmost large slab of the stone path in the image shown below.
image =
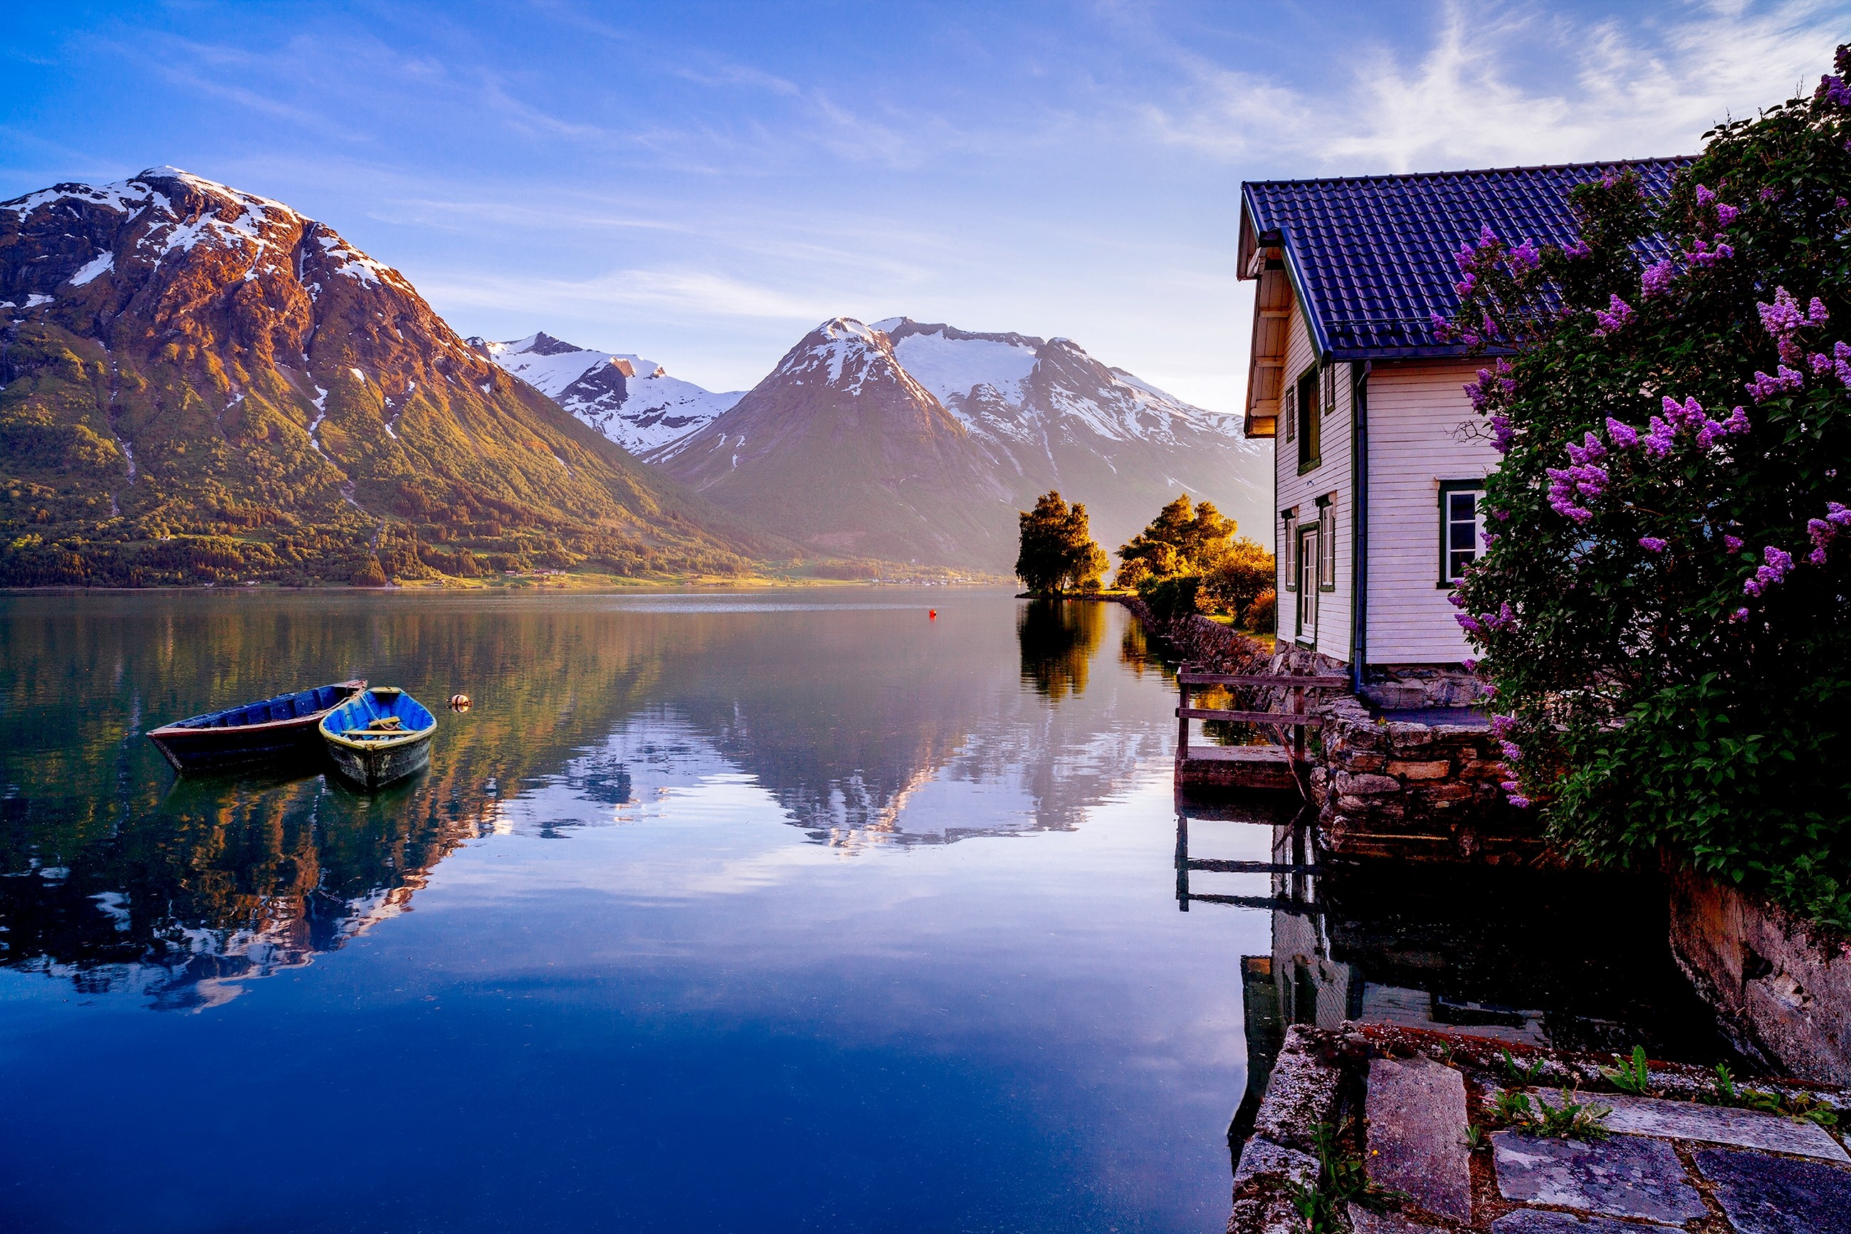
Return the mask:
{"type": "Polygon", "coordinates": [[[1370,1182],[1407,1191],[1436,1215],[1470,1221],[1466,1079],[1431,1058],[1373,1058],[1364,1112],[1370,1182]]]}

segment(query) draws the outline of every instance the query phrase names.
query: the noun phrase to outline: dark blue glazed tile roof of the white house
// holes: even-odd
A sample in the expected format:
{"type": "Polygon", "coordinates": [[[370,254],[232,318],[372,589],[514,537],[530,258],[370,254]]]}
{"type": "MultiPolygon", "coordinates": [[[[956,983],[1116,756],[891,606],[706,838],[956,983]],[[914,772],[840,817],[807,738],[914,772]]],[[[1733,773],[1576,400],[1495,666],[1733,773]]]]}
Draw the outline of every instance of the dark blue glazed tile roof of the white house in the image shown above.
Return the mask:
{"type": "MultiPolygon", "coordinates": [[[[1490,226],[1516,244],[1577,239],[1568,191],[1631,167],[1657,205],[1671,174],[1692,163],[1636,159],[1483,172],[1262,179],[1240,185],[1240,274],[1259,237],[1279,231],[1312,340],[1335,359],[1462,355],[1433,337],[1433,315],[1459,307],[1453,253],[1490,226]]],[[[1657,261],[1670,242],[1651,237],[1640,255],[1657,261]]]]}

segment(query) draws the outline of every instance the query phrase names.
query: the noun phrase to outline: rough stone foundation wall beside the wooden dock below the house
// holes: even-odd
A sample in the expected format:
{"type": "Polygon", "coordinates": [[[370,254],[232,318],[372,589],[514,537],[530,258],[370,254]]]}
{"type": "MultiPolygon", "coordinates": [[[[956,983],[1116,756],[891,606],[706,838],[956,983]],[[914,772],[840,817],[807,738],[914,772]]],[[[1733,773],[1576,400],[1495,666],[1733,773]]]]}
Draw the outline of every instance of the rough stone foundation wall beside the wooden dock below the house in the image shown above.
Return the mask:
{"type": "Polygon", "coordinates": [[[1533,810],[1505,801],[1490,727],[1381,720],[1353,696],[1329,703],[1311,790],[1338,857],[1520,862],[1542,851],[1533,810]]]}

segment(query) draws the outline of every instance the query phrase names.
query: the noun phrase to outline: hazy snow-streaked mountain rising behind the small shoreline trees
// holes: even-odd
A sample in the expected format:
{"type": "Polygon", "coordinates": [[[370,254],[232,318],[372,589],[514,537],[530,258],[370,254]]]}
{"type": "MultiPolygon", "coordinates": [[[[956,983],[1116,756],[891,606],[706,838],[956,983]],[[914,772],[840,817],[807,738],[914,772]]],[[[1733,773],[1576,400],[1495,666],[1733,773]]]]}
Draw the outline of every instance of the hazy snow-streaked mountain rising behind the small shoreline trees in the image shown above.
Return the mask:
{"type": "Polygon", "coordinates": [[[818,549],[1014,562],[1048,488],[1116,548],[1179,492],[1266,535],[1266,463],[1236,416],[1192,407],[1068,339],[831,318],[705,427],[644,455],[818,549]]]}

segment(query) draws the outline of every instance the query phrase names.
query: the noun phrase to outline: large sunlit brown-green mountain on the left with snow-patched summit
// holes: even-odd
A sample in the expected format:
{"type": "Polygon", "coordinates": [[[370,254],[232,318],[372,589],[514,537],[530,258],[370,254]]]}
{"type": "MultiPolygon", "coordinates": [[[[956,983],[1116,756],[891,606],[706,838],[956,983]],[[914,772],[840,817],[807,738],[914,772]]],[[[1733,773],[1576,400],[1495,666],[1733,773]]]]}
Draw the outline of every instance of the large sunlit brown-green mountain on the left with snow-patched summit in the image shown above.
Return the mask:
{"type": "Polygon", "coordinates": [[[161,167],[0,204],[0,583],[737,570],[774,549],[281,202],[161,167]]]}

